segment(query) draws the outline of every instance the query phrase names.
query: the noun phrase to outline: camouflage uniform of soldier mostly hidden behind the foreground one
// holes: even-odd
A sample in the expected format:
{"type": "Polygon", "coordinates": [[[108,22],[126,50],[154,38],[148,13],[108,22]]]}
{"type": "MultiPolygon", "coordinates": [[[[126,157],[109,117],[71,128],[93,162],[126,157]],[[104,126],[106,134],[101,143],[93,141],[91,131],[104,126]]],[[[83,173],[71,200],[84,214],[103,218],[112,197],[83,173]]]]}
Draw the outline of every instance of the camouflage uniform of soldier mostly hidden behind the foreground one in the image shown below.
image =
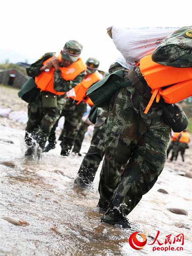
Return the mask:
{"type": "MultiPolygon", "coordinates": [[[[109,73],[113,73],[120,69],[126,70],[126,68],[123,68],[118,62],[114,62],[109,67],[109,73]]],[[[91,145],[86,156],[83,158],[83,162],[81,163],[77,177],[75,178],[75,183],[88,185],[91,184],[95,178],[97,169],[105,154],[105,120],[108,118],[108,116],[108,109],[97,109],[97,119],[95,128],[93,130],[91,145]]]]}

